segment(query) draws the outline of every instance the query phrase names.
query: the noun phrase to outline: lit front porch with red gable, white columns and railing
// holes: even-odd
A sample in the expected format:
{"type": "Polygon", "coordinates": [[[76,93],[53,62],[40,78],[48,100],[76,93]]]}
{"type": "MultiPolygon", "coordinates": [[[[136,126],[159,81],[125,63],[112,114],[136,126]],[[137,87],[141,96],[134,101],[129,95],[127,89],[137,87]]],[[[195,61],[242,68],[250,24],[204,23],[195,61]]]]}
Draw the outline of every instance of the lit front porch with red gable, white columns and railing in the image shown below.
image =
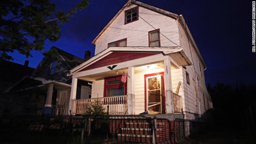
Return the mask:
{"type": "Polygon", "coordinates": [[[72,115],[86,112],[96,99],[110,114],[134,115],[145,111],[154,114],[181,113],[182,97],[174,94],[183,83],[182,66],[190,60],[181,48],[111,47],[72,69],[69,110],[72,115]],[[127,80],[122,81],[122,74],[127,80]],[[77,100],[78,80],[92,85],[90,99],[77,100]],[[177,88],[178,89],[178,88],[177,88]]]}

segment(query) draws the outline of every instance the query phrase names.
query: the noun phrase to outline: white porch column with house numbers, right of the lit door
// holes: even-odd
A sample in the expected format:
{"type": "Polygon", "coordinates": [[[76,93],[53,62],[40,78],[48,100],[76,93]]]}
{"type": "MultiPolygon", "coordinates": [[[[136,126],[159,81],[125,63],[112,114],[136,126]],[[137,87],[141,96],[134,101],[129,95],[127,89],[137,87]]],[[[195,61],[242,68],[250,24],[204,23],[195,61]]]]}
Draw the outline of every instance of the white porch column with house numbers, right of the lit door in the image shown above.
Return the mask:
{"type": "Polygon", "coordinates": [[[171,75],[171,61],[169,56],[164,59],[164,80],[165,80],[165,105],[166,114],[174,113],[173,97],[172,97],[172,75],[171,75]]]}

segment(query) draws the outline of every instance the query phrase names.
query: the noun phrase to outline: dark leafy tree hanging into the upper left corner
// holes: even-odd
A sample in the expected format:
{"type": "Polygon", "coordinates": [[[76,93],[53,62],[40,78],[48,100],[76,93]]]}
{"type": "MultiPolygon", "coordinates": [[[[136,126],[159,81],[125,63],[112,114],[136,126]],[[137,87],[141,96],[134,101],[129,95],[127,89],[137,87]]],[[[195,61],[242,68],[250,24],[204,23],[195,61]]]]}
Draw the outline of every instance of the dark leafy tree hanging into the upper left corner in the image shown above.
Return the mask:
{"type": "Polygon", "coordinates": [[[43,50],[45,40],[60,39],[60,24],[88,4],[89,0],[81,0],[68,12],[56,12],[49,0],[1,0],[0,58],[13,60],[8,52],[15,50],[32,57],[30,51],[43,50]]]}

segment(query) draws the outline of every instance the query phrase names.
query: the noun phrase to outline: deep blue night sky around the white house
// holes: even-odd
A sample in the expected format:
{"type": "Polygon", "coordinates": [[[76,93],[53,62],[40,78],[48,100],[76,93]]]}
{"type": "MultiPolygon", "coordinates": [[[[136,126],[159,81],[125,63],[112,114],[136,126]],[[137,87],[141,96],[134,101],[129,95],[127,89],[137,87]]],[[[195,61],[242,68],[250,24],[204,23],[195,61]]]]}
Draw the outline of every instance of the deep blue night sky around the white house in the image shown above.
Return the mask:
{"type": "MultiPolygon", "coordinates": [[[[206,84],[250,83],[256,80],[256,52],[252,52],[252,2],[250,0],[139,0],[164,10],[183,14],[190,32],[206,63],[206,84]],[[184,8],[184,9],[183,9],[184,8]],[[184,10],[184,11],[183,11],[184,10]]],[[[57,10],[68,10],[79,0],[51,0],[57,10]]],[[[46,42],[45,50],[56,46],[84,58],[84,51],[94,56],[92,40],[115,16],[126,0],[90,0],[88,8],[61,25],[62,38],[46,42]]],[[[36,68],[43,56],[33,58],[12,54],[14,62],[36,68]]]]}

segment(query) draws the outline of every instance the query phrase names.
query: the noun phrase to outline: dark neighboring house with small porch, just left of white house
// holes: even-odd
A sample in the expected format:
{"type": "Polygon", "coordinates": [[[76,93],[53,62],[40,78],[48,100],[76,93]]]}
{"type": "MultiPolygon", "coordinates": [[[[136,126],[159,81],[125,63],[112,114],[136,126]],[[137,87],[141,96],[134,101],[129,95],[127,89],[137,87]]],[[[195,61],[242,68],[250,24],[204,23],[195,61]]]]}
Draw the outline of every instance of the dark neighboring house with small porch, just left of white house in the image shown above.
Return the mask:
{"type": "MultiPolygon", "coordinates": [[[[85,60],[56,47],[52,47],[50,51],[57,56],[45,56],[31,75],[24,76],[5,91],[13,97],[12,112],[37,113],[43,107],[52,107],[56,114],[68,114],[72,82],[69,70],[85,60]]],[[[85,58],[88,60],[90,52],[87,51],[86,54],[85,58]]],[[[83,80],[79,84],[80,95],[76,99],[88,98],[90,85],[83,80]]]]}

